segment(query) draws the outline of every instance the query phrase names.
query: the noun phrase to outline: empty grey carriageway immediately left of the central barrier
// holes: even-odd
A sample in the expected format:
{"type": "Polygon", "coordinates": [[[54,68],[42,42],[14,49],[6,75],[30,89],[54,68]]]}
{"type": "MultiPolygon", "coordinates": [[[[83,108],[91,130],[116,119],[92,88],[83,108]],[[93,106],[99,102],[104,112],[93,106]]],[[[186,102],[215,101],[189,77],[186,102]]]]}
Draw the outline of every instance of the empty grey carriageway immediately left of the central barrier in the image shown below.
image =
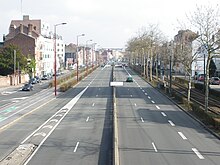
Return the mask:
{"type": "Polygon", "coordinates": [[[110,75],[111,68],[99,68],[75,87],[88,89],[28,164],[111,164],[110,75]]]}

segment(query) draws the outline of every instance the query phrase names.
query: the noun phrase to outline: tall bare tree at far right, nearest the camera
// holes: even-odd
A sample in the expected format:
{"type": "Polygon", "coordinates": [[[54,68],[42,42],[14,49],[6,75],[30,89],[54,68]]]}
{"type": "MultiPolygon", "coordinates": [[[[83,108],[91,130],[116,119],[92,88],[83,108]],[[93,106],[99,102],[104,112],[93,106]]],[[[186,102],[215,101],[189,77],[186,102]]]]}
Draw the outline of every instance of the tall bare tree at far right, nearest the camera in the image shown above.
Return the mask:
{"type": "MultiPolygon", "coordinates": [[[[216,51],[219,50],[219,8],[200,6],[188,17],[191,25],[198,31],[197,40],[201,47],[205,48],[207,54],[205,75],[205,111],[208,110],[209,98],[209,64],[216,51]]],[[[205,69],[205,68],[204,68],[205,69]]]]}

